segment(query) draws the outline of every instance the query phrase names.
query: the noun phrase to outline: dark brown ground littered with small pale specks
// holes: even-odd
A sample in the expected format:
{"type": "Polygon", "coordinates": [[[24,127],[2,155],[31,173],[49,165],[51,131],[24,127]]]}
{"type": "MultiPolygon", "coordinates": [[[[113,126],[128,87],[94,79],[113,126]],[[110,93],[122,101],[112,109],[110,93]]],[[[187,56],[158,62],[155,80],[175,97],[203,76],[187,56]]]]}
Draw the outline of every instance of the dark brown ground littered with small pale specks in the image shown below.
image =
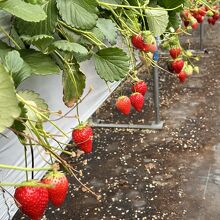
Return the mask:
{"type": "MultiPolygon", "coordinates": [[[[68,159],[80,179],[102,195],[98,201],[69,177],[61,208],[49,220],[219,220],[220,219],[220,25],[205,25],[201,73],[179,84],[160,71],[163,130],[94,128],[90,155],[68,159]]],[[[198,48],[198,32],[190,37],[198,48]]],[[[186,38],[183,38],[186,42],[186,38]]],[[[163,65],[163,61],[162,61],[163,65]]],[[[94,117],[107,123],[145,124],[154,119],[152,76],[142,71],[149,91],[144,110],[129,117],[115,110],[116,97],[130,94],[124,83],[94,117]]],[[[25,219],[18,212],[14,220],[25,219]]]]}

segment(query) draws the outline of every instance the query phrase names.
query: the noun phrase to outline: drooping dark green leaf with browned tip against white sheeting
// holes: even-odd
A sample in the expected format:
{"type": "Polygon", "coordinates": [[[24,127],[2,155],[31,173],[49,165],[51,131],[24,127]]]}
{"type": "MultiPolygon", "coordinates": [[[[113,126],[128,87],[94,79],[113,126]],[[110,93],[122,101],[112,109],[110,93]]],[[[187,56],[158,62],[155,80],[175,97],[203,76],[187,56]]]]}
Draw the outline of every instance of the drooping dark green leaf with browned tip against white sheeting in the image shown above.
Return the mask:
{"type": "Polygon", "coordinates": [[[80,71],[79,64],[65,66],[63,71],[63,101],[67,107],[73,107],[85,88],[85,75],[80,71]]]}

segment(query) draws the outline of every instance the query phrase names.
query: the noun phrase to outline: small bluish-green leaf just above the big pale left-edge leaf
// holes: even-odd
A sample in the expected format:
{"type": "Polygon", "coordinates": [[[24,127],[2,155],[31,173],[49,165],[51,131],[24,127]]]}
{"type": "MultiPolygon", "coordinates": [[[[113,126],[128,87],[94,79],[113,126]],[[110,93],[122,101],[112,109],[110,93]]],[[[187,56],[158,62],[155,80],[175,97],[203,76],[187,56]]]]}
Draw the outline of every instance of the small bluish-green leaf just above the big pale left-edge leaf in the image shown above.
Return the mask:
{"type": "Polygon", "coordinates": [[[19,72],[23,66],[23,62],[23,59],[16,50],[8,52],[8,54],[5,56],[5,67],[7,68],[8,72],[19,72]]]}

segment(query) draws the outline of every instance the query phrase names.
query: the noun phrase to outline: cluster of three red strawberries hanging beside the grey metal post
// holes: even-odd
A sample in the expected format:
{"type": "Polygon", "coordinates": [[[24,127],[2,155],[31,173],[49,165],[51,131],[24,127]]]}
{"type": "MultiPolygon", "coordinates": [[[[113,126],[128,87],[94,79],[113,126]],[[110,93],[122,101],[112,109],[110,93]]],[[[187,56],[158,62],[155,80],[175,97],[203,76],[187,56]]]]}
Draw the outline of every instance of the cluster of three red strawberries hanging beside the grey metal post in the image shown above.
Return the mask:
{"type": "Polygon", "coordinates": [[[116,108],[121,113],[128,115],[131,111],[131,106],[138,112],[140,112],[144,105],[144,95],[147,92],[147,84],[140,80],[136,82],[132,87],[132,94],[130,97],[120,96],[116,101],[116,108]]]}

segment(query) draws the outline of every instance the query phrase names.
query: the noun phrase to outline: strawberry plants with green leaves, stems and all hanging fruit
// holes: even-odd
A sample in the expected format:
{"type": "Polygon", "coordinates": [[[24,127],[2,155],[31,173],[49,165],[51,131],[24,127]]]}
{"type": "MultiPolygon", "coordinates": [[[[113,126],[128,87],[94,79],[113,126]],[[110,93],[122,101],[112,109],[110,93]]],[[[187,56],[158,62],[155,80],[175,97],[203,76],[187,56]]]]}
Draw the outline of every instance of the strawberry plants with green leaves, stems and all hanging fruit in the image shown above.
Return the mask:
{"type": "MultiPolygon", "coordinates": [[[[122,95],[116,108],[125,115],[131,105],[141,111],[147,84],[137,76],[137,59],[146,66],[158,65],[153,55],[160,39],[171,55],[170,68],[180,82],[198,67],[191,63],[192,55],[183,50],[179,34],[208,16],[214,24],[219,19],[218,4],[205,0],[3,0],[0,1],[0,132],[10,129],[32,152],[32,168],[0,164],[3,169],[32,172],[32,178],[22,183],[0,183],[15,186],[15,201],[21,211],[32,219],[40,219],[50,201],[60,206],[68,191],[64,174],[54,168],[60,164],[79,182],[77,172],[60,153],[74,156],[74,150],[64,150],[66,144],[44,127],[49,123],[61,137],[69,137],[56,120],[65,118],[72,109],[77,110],[79,126],[73,128],[74,145],[85,153],[92,152],[92,128],[80,119],[78,105],[82,97],[86,76],[80,69],[82,61],[91,60],[98,76],[105,82],[130,80],[130,98],[122,95]],[[5,27],[2,21],[8,21],[5,27]],[[181,27],[181,20],[185,27],[181,27]],[[157,41],[156,41],[157,39],[157,41]],[[125,49],[122,49],[125,48],[125,49]],[[63,101],[70,111],[63,114],[51,111],[38,93],[19,90],[29,77],[62,75],[63,101]],[[51,119],[52,117],[56,119],[51,119]],[[53,141],[56,144],[50,144],[53,141]],[[40,146],[49,156],[49,166],[35,167],[33,148],[40,146]],[[42,181],[34,180],[35,171],[52,170],[42,181]],[[36,209],[33,209],[34,201],[36,209]]],[[[162,68],[162,67],[160,67],[162,68]]],[[[4,136],[4,134],[3,134],[4,136]]],[[[80,173],[81,174],[81,173],[80,173]]],[[[83,185],[83,183],[80,182],[83,185]]],[[[97,196],[88,187],[87,191],[97,196]]],[[[98,196],[97,196],[98,198],[98,196]]]]}

